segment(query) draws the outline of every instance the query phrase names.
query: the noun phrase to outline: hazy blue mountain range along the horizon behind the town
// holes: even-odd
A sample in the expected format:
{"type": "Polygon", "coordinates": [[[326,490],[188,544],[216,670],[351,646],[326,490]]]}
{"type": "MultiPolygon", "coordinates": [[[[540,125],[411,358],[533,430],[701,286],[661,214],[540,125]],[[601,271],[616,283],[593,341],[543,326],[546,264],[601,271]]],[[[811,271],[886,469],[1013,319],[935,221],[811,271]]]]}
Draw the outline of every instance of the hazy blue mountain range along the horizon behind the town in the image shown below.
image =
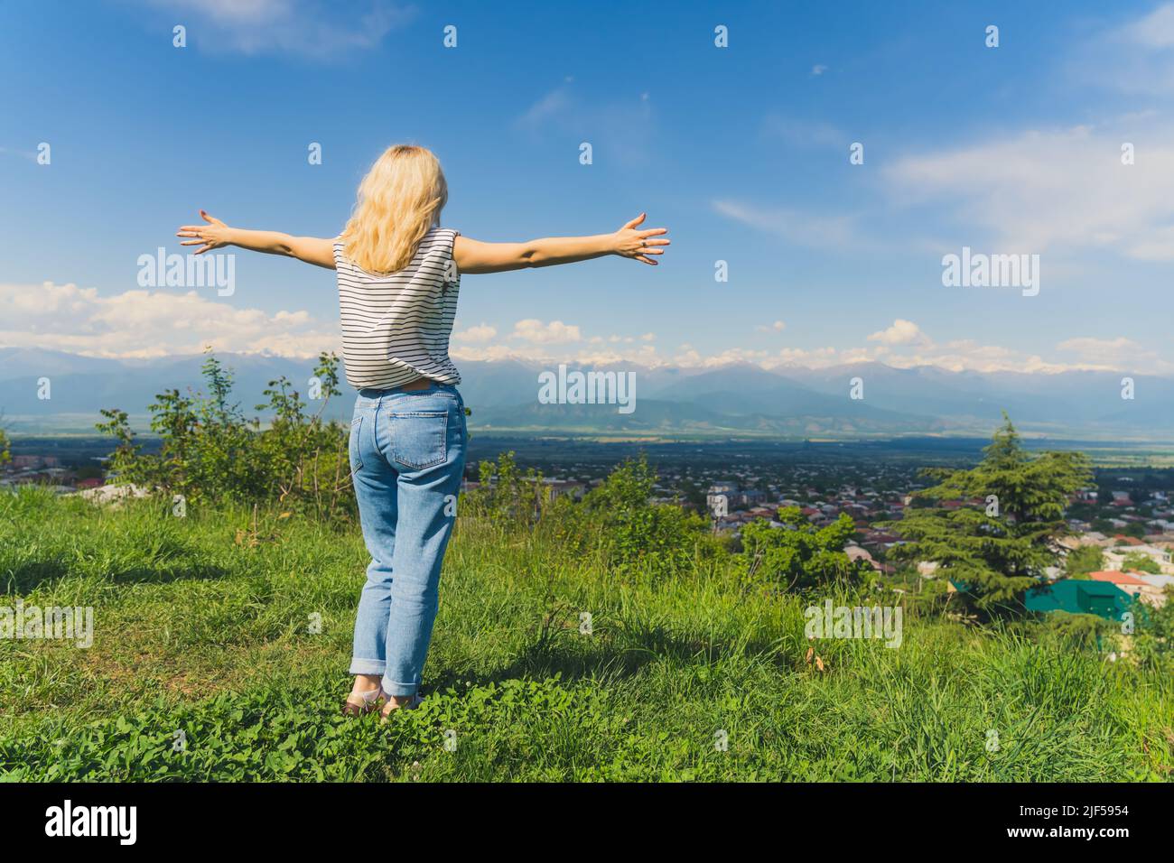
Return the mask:
{"type": "MultiPolygon", "coordinates": [[[[247,416],[281,376],[306,392],[313,362],[259,355],[221,355],[232,370],[235,398],[247,416]]],[[[146,427],[147,406],[164,389],[198,390],[203,356],[107,359],[61,351],[0,348],[0,411],[13,432],[92,430],[103,407],[120,407],[146,427]],[[39,398],[49,382],[49,398],[39,398]]],[[[1006,411],[1025,432],[1089,440],[1174,439],[1174,378],[1133,376],[1125,399],[1122,375],[896,369],[858,363],[764,370],[753,364],[716,369],[589,366],[633,372],[635,410],[614,404],[541,404],[546,365],[512,359],[458,363],[471,426],[483,432],[663,436],[893,437],[987,434],[1006,411]],[[858,380],[857,380],[858,379],[858,380]],[[863,396],[852,398],[851,395],[863,396]]],[[[588,366],[581,368],[583,371],[588,366]]],[[[350,414],[350,392],[328,413],[350,414]]]]}

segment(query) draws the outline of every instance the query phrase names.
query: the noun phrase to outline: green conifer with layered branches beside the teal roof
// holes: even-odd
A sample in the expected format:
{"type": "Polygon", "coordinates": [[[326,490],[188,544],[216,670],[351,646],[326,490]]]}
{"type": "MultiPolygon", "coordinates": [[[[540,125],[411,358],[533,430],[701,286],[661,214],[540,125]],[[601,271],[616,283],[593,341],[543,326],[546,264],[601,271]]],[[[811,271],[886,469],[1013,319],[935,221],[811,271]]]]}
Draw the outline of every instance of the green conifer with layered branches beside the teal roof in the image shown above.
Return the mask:
{"type": "MultiPolygon", "coordinates": [[[[992,612],[1016,605],[1055,564],[1054,540],[1068,533],[1064,507],[1070,495],[1092,481],[1088,460],[1078,452],[1028,454],[1011,419],[996,431],[983,460],[970,470],[927,468],[937,485],[918,498],[933,506],[906,510],[884,522],[909,540],[891,557],[936,561],[938,573],[992,612]],[[944,501],[965,501],[945,507],[944,501]]],[[[1020,606],[1021,607],[1021,606],[1020,606]]]]}

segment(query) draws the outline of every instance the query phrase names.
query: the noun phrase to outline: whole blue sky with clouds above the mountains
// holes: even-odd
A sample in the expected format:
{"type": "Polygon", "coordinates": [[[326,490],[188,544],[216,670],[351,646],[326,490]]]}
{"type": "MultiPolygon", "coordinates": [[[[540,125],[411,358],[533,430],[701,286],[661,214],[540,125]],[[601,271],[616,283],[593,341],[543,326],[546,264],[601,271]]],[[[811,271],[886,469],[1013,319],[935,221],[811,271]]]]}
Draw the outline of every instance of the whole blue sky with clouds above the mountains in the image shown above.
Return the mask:
{"type": "Polygon", "coordinates": [[[471,237],[647,210],[674,241],[467,277],[458,358],[1174,372],[1174,4],[723,6],[5,4],[0,345],[335,346],[329,271],[238,252],[221,297],[140,288],[137,258],[201,207],[332,236],[409,141],[471,237]],[[1039,294],[944,286],[964,245],[1038,254],[1039,294]]]}

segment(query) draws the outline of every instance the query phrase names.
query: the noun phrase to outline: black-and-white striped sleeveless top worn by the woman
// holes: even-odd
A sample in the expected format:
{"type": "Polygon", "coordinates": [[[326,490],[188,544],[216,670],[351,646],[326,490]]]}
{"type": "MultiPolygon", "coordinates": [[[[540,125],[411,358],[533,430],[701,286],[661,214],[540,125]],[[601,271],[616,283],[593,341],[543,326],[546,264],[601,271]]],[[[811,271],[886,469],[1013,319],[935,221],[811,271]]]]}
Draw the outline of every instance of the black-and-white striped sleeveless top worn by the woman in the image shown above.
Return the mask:
{"type": "Polygon", "coordinates": [[[335,243],[343,366],[351,386],[389,390],[421,376],[460,383],[448,358],[460,290],[452,259],[458,234],[433,228],[407,267],[384,275],[362,269],[335,243]]]}

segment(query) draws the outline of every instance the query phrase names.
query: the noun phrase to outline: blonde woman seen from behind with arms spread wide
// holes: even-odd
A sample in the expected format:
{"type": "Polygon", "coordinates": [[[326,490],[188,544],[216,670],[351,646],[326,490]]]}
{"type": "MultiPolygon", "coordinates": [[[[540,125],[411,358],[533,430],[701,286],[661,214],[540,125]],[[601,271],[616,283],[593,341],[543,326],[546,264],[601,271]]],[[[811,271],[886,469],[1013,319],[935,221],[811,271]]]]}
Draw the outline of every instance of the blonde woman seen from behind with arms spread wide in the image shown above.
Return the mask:
{"type": "Polygon", "coordinates": [[[344,712],[419,703],[437,615],[440,562],[465,467],[460,373],[448,358],[463,275],[552,267],[620,255],[655,264],[664,228],[645,214],[614,234],[481,243],[440,228],[448,187],[423,147],[390,147],[363,178],[337,240],[207,224],[184,225],[197,255],[224,245],[296,257],[337,272],[346,380],[358,392],[350,460],[363,539],[371,553],[355,621],[344,712]]]}

